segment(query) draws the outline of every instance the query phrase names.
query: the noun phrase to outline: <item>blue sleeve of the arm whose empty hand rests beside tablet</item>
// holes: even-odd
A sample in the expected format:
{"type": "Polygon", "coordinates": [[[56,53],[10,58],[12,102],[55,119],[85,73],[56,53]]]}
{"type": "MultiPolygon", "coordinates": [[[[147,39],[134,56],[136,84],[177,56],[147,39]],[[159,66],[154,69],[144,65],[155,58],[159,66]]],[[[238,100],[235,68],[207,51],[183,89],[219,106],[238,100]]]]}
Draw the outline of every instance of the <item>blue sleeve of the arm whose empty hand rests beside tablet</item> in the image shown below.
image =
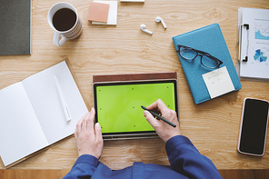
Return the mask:
{"type": "Polygon", "coordinates": [[[95,173],[98,164],[99,161],[95,156],[83,154],[78,157],[71,171],[63,179],[89,179],[95,173]]]}

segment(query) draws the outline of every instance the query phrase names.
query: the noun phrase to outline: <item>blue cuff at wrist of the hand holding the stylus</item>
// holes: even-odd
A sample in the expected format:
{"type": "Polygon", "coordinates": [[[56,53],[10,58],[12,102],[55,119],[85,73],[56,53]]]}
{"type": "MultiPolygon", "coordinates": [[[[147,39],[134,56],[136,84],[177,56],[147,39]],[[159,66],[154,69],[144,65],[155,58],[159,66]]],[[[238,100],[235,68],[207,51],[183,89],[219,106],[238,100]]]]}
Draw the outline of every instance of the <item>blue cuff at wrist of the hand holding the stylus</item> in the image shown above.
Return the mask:
{"type": "Polygon", "coordinates": [[[180,144],[191,144],[194,145],[190,139],[185,137],[184,135],[175,135],[174,137],[170,138],[165,144],[166,153],[169,155],[174,151],[174,148],[180,144]]]}

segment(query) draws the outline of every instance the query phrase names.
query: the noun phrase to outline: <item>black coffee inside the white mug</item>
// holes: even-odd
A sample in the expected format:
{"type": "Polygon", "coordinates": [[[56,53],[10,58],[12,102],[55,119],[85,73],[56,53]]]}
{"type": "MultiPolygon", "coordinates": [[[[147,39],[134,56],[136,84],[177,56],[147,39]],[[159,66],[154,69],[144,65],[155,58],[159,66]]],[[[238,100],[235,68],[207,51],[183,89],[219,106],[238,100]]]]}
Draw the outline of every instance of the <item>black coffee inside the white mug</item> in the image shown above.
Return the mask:
{"type": "Polygon", "coordinates": [[[75,25],[75,12],[68,8],[59,9],[53,17],[53,24],[58,31],[67,31],[75,25]]]}

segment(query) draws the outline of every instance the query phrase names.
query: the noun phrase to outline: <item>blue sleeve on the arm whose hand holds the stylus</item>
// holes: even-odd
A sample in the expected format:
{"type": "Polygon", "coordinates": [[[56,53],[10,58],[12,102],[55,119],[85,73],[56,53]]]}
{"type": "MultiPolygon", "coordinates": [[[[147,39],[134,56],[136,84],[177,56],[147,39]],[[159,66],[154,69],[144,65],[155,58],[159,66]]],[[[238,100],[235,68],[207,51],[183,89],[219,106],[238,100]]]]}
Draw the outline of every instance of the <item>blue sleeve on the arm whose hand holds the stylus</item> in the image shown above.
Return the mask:
{"type": "Polygon", "coordinates": [[[189,178],[222,178],[212,161],[200,154],[187,137],[172,137],[166,142],[165,149],[175,171],[189,178]]]}

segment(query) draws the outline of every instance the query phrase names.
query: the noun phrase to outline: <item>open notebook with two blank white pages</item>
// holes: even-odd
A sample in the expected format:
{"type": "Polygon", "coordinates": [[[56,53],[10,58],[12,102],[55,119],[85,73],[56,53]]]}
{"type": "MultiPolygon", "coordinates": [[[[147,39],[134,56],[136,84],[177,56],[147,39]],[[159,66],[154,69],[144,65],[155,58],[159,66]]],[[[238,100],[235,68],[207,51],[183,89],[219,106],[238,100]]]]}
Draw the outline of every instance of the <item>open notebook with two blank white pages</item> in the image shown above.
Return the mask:
{"type": "Polygon", "coordinates": [[[5,167],[74,134],[87,112],[65,61],[0,90],[0,155],[5,167]],[[71,121],[65,120],[55,75],[71,121]]]}

